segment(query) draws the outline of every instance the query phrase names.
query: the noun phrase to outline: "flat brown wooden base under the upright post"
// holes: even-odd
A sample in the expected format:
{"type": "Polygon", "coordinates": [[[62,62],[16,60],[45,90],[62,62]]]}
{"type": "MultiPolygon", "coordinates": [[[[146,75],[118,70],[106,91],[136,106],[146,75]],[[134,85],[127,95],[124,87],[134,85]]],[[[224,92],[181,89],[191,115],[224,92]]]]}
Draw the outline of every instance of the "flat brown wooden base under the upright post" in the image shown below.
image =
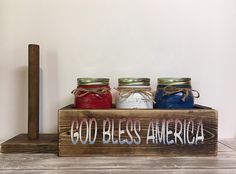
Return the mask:
{"type": "Polygon", "coordinates": [[[27,134],[19,134],[1,144],[2,153],[57,153],[58,135],[39,134],[36,140],[29,140],[27,134]]]}

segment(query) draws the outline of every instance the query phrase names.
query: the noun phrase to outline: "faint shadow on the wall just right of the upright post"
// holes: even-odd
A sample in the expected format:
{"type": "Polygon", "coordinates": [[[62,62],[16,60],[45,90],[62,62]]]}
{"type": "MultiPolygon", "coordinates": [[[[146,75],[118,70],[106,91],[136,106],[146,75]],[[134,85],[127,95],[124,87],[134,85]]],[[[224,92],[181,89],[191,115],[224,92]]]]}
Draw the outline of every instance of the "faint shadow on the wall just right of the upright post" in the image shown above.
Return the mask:
{"type": "Polygon", "coordinates": [[[48,52],[44,66],[40,69],[40,118],[39,131],[43,133],[57,132],[57,110],[59,108],[59,71],[58,55],[48,52]]]}

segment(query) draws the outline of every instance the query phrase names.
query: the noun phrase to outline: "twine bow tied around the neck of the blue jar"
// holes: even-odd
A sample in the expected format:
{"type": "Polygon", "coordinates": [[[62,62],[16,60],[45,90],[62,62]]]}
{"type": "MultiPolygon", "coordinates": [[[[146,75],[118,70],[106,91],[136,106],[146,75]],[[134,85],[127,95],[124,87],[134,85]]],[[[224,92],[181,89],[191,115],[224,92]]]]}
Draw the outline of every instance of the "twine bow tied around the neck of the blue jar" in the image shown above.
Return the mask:
{"type": "Polygon", "coordinates": [[[190,95],[190,92],[195,92],[197,95],[193,95],[194,98],[199,98],[200,97],[200,93],[197,90],[193,90],[191,88],[178,88],[175,86],[165,86],[164,88],[158,88],[158,90],[163,90],[164,94],[163,96],[169,96],[172,94],[176,94],[179,92],[182,92],[184,94],[184,96],[182,97],[182,101],[185,101],[186,98],[190,95]]]}

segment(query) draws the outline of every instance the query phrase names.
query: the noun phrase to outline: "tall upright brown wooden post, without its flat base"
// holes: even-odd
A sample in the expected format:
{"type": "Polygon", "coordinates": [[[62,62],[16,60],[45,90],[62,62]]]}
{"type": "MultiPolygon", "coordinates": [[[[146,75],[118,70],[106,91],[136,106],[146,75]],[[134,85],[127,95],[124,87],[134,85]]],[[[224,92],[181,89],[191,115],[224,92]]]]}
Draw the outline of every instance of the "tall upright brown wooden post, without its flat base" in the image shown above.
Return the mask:
{"type": "Polygon", "coordinates": [[[39,45],[28,46],[28,138],[39,137],[39,45]]]}

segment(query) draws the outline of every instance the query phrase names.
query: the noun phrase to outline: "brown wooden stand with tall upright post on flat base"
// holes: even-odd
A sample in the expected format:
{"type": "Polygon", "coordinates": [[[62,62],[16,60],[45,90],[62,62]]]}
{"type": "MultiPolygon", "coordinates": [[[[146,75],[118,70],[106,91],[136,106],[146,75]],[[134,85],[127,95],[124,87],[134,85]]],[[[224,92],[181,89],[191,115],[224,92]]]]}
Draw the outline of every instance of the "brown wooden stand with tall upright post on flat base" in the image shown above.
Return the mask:
{"type": "Polygon", "coordinates": [[[39,134],[39,45],[28,45],[28,134],[1,144],[2,153],[57,153],[58,135],[39,134]]]}

